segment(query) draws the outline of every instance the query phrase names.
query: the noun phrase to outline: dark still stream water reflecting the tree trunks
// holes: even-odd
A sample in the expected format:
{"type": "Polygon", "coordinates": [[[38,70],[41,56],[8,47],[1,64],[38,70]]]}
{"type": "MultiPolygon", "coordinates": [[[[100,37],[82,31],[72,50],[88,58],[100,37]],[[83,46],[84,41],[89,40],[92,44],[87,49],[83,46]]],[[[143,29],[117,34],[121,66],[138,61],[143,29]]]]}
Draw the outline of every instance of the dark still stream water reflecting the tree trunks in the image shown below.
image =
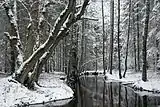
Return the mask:
{"type": "Polygon", "coordinates": [[[77,99],[63,107],[160,107],[160,95],[135,92],[117,82],[104,82],[102,77],[87,76],[77,84],[77,99]]]}

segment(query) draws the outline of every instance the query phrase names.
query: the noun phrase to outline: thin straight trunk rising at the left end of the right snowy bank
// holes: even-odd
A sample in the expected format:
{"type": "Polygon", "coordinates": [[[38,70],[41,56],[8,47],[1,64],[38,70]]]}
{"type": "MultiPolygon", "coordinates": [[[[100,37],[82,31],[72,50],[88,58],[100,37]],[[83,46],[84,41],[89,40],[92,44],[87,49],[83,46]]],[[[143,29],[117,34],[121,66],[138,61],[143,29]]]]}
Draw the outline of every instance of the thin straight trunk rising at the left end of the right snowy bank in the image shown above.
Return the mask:
{"type": "Polygon", "coordinates": [[[103,74],[106,74],[105,70],[105,30],[104,30],[104,6],[103,6],[103,0],[102,0],[102,38],[103,38],[103,74]]]}

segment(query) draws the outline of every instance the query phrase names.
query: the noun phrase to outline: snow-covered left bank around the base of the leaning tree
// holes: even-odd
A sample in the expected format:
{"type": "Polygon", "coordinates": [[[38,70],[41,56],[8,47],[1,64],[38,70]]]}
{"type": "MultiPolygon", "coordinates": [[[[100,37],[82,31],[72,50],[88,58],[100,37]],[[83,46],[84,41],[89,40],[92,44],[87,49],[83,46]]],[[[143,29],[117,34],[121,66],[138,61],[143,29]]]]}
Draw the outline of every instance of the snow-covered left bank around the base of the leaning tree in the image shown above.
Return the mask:
{"type": "Polygon", "coordinates": [[[23,103],[44,103],[73,97],[72,89],[59,79],[62,75],[43,73],[39,80],[39,84],[43,87],[36,86],[35,90],[28,90],[21,84],[12,81],[11,77],[1,78],[0,107],[12,107],[23,103]]]}

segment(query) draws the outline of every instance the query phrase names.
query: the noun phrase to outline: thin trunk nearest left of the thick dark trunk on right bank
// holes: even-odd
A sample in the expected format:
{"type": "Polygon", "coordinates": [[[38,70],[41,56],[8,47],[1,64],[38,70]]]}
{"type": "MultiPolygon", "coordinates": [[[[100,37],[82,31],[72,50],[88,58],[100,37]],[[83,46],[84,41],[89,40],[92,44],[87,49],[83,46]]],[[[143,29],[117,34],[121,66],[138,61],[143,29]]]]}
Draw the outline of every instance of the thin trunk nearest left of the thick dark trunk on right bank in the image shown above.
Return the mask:
{"type": "Polygon", "coordinates": [[[138,70],[138,72],[140,71],[140,45],[139,45],[139,40],[140,40],[140,38],[139,38],[139,4],[137,3],[137,17],[136,17],[136,19],[137,19],[137,25],[136,25],[136,27],[137,27],[137,70],[138,70]]]}

